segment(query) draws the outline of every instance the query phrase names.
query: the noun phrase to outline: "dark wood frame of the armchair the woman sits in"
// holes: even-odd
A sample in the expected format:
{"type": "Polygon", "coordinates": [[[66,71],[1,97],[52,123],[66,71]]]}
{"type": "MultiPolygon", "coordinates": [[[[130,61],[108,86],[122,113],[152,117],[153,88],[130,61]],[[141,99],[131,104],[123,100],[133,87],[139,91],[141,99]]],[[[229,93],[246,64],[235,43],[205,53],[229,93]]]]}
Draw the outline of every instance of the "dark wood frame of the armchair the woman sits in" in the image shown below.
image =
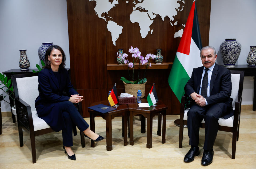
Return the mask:
{"type": "MultiPolygon", "coordinates": [[[[26,73],[26,74],[19,74],[19,75],[11,75],[11,80],[13,83],[13,90],[15,96],[15,105],[16,105],[16,112],[17,112],[17,123],[18,123],[18,131],[19,131],[19,143],[20,146],[23,146],[23,133],[22,129],[25,130],[30,136],[31,142],[31,153],[32,153],[32,162],[36,163],[36,154],[35,154],[35,136],[43,135],[51,132],[55,132],[51,127],[47,129],[37,130],[34,131],[31,107],[21,98],[19,98],[18,89],[17,89],[17,82],[16,78],[21,77],[31,77],[31,76],[38,76],[38,73],[26,73]]],[[[82,104],[79,102],[75,105],[83,117],[82,111],[82,104]]],[[[76,127],[73,130],[74,136],[77,135],[76,127]]],[[[81,145],[85,147],[85,137],[83,131],[80,131],[81,137],[81,145]]]]}

